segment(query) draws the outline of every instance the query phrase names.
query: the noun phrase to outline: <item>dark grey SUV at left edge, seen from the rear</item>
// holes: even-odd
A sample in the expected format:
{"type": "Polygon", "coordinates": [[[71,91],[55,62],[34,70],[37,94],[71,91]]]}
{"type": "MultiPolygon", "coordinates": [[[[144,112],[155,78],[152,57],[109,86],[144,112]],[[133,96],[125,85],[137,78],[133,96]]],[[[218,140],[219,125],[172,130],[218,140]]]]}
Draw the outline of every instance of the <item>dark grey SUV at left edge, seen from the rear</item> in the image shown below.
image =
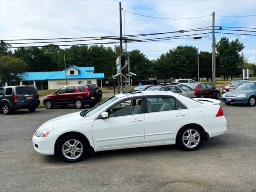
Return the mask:
{"type": "Polygon", "coordinates": [[[39,104],[39,94],[34,86],[0,87],[0,109],[5,115],[18,109],[34,111],[39,104]]]}

